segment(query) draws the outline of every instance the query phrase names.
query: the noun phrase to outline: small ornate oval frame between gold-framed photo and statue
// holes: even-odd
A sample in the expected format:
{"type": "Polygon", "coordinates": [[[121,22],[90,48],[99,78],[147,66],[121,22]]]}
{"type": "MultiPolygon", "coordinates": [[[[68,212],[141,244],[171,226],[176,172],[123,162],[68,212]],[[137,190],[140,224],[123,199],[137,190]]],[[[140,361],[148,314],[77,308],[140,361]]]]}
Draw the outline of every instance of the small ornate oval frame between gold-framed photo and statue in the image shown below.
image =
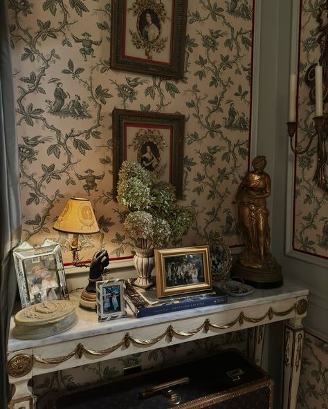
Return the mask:
{"type": "Polygon", "coordinates": [[[233,267],[233,256],[230,247],[225,244],[223,237],[215,232],[209,240],[210,272],[213,281],[227,281],[233,267]]]}

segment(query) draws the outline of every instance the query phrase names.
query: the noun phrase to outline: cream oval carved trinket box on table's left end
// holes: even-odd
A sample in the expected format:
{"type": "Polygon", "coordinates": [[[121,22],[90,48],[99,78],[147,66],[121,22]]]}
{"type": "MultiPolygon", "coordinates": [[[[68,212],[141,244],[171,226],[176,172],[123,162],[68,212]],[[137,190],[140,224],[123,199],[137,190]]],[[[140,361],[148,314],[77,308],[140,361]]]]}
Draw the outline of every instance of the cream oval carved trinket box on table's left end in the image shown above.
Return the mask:
{"type": "Polygon", "coordinates": [[[18,339],[40,339],[59,334],[78,322],[71,301],[55,300],[30,305],[17,312],[12,334],[18,339]]]}

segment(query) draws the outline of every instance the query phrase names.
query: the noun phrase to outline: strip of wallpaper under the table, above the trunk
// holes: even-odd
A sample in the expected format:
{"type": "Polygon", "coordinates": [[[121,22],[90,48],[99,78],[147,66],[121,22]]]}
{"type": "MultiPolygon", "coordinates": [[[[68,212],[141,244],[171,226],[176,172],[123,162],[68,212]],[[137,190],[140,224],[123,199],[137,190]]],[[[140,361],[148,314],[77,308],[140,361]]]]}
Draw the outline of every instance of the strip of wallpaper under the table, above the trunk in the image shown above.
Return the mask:
{"type": "Polygon", "coordinates": [[[33,377],[33,390],[37,395],[37,409],[46,409],[57,396],[66,390],[73,390],[102,381],[109,381],[124,374],[124,368],[140,365],[142,370],[158,368],[161,365],[178,365],[192,359],[201,359],[227,348],[246,352],[247,332],[211,336],[199,341],[189,341],[170,347],[124,356],[89,365],[33,377]]]}

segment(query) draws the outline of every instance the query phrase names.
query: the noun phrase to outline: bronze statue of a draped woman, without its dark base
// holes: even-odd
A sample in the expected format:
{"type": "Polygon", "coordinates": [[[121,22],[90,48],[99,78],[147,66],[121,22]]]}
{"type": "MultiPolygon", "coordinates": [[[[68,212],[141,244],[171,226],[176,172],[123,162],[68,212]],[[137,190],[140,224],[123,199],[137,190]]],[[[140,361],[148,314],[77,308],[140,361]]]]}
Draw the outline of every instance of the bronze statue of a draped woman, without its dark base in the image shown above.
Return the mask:
{"type": "Polygon", "coordinates": [[[239,185],[238,229],[246,251],[239,257],[245,267],[259,269],[276,265],[270,253],[270,227],[266,198],[271,194],[271,179],[264,172],[265,156],[257,156],[252,162],[253,171],[247,172],[239,185]]]}

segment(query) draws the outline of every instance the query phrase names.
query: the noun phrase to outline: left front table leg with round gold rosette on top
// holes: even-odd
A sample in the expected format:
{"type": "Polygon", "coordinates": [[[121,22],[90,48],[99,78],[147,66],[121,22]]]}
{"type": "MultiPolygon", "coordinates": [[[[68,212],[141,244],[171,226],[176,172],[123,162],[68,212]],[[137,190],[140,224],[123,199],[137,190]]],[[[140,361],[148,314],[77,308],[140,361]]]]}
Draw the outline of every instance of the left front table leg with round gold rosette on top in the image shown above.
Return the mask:
{"type": "Polygon", "coordinates": [[[28,386],[32,379],[33,359],[30,354],[12,356],[7,363],[8,380],[13,386],[8,409],[35,409],[36,397],[28,386]]]}

